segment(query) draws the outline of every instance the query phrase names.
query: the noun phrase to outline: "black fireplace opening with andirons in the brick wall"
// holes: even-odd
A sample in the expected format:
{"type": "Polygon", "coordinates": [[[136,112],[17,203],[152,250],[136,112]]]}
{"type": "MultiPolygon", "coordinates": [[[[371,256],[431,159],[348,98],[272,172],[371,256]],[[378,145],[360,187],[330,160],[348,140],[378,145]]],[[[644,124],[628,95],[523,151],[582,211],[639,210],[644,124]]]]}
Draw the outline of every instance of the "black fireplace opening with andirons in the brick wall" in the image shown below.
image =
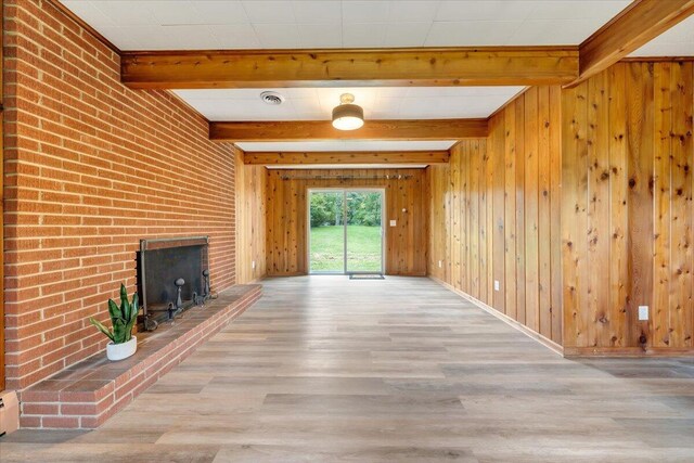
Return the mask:
{"type": "Polygon", "coordinates": [[[210,297],[207,236],[141,240],[138,295],[145,330],[210,297]]]}

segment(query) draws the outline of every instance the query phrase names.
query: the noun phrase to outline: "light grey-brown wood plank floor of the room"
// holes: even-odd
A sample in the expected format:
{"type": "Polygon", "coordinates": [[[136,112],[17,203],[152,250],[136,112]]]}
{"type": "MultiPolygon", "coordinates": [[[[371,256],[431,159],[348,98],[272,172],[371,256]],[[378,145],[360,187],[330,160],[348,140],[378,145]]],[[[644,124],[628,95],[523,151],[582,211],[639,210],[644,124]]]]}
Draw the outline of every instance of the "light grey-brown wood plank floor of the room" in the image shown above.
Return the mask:
{"type": "Polygon", "coordinates": [[[101,428],[0,461],[694,461],[694,359],[565,360],[427,279],[264,285],[101,428]]]}

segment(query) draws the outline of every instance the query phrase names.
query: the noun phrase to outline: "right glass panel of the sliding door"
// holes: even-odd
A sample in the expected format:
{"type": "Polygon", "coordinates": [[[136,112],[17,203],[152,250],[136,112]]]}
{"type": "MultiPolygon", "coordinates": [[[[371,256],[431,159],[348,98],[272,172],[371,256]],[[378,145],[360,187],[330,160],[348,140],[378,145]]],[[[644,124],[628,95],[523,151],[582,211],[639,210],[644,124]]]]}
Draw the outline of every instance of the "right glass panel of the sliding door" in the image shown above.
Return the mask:
{"type": "Polygon", "coordinates": [[[383,192],[347,191],[346,272],[383,271],[383,192]]]}

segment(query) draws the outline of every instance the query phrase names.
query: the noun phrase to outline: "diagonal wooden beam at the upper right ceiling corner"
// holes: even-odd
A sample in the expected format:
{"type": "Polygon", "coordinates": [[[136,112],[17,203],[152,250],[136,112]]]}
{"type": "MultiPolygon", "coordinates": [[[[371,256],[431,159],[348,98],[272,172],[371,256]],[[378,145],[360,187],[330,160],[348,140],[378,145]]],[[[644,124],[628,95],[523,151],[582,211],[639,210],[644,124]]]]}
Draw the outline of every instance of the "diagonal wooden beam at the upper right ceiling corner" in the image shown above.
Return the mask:
{"type": "Polygon", "coordinates": [[[605,70],[694,13],[694,0],[634,0],[579,47],[580,76],[605,70]]]}

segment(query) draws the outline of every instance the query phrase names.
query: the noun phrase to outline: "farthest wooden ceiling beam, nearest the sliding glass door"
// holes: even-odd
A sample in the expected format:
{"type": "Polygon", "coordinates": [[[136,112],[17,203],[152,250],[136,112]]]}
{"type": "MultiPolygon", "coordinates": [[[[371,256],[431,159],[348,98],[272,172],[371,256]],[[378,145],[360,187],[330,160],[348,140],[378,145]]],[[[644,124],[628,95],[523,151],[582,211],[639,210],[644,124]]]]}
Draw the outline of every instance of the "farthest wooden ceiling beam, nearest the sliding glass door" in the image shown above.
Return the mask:
{"type": "Polygon", "coordinates": [[[244,164],[448,164],[450,153],[441,151],[371,151],[371,152],[246,152],[244,164]]]}

